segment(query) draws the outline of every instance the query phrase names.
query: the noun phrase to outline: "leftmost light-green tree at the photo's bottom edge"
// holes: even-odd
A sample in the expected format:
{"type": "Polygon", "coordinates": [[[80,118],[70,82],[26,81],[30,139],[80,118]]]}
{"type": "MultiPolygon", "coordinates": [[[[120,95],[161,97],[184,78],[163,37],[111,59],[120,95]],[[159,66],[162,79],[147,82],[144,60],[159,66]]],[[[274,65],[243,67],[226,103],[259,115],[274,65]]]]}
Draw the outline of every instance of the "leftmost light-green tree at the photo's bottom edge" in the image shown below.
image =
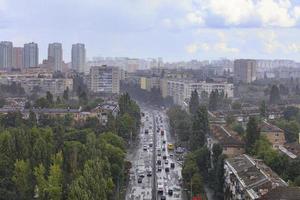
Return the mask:
{"type": "Polygon", "coordinates": [[[29,160],[16,160],[12,177],[21,199],[31,199],[33,194],[32,172],[29,160]]]}

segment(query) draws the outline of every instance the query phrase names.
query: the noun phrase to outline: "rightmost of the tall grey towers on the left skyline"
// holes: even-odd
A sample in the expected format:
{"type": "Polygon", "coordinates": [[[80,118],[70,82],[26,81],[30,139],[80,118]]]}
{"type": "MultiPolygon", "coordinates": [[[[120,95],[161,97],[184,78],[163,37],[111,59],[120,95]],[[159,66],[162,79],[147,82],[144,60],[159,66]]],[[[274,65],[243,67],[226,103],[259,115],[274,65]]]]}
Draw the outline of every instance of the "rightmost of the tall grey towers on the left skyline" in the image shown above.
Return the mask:
{"type": "Polygon", "coordinates": [[[84,44],[73,44],[72,45],[72,69],[79,73],[85,72],[85,45],[84,44]]]}

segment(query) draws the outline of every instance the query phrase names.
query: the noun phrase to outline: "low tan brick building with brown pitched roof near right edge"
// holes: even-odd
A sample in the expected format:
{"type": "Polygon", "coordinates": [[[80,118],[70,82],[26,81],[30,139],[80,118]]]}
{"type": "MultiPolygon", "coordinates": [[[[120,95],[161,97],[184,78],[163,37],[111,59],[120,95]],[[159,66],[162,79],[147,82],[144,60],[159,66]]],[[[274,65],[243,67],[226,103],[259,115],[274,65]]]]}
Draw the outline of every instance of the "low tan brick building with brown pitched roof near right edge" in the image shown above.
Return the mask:
{"type": "Polygon", "coordinates": [[[273,148],[279,148],[285,144],[284,131],[277,126],[263,121],[260,125],[260,134],[265,135],[269,142],[272,144],[273,148]]]}

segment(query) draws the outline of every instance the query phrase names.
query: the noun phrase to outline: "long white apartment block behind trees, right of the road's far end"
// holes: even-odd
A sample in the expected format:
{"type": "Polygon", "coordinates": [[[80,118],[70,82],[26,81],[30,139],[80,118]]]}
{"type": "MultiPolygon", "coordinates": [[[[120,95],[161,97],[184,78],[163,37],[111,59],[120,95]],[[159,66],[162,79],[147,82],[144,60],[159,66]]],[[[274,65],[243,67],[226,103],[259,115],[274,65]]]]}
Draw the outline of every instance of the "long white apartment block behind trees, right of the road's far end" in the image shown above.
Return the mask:
{"type": "Polygon", "coordinates": [[[167,95],[164,94],[164,96],[171,96],[175,104],[185,106],[194,90],[197,90],[199,95],[202,92],[210,95],[212,91],[218,90],[218,92],[223,92],[228,98],[233,97],[233,84],[231,83],[207,83],[192,80],[168,80],[167,95]]]}

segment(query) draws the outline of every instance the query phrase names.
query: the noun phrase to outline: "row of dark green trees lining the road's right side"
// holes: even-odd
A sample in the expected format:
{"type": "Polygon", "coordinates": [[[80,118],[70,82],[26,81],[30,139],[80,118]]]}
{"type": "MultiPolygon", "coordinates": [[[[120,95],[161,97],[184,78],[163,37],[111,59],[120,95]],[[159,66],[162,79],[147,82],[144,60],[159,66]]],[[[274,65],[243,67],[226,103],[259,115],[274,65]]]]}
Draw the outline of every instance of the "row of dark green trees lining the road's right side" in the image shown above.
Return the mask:
{"type": "Polygon", "coordinates": [[[185,157],[182,175],[185,187],[196,196],[204,194],[204,183],[215,191],[215,196],[222,199],[224,180],[224,156],[222,147],[215,145],[213,154],[207,149],[206,135],[209,134],[208,112],[200,105],[197,91],[192,92],[189,113],[180,107],[168,110],[170,126],[177,141],[189,148],[185,157]],[[213,160],[211,160],[211,158],[213,160]]]}

